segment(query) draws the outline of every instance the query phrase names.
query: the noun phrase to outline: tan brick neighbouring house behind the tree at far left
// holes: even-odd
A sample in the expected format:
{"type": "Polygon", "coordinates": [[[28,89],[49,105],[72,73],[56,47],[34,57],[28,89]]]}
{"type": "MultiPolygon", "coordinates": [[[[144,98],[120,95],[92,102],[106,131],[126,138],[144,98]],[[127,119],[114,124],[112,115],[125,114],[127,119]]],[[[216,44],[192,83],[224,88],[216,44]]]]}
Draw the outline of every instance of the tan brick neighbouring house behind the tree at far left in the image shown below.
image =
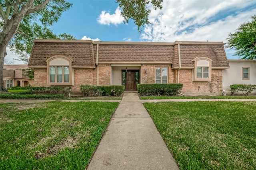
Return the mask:
{"type": "Polygon", "coordinates": [[[28,64],[6,64],[4,65],[4,86],[10,88],[12,86],[28,86],[34,84],[24,69],[28,68],[28,64]]]}

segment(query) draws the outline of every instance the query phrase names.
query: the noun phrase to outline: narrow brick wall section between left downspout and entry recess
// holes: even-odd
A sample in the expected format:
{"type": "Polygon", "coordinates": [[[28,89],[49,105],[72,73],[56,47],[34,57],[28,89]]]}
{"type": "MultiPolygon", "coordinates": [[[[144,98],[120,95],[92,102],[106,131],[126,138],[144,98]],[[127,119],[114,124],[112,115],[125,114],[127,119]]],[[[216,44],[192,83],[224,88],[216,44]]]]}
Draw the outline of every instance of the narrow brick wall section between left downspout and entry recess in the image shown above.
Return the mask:
{"type": "Polygon", "coordinates": [[[99,86],[109,86],[110,75],[111,75],[111,65],[99,64],[99,86]]]}

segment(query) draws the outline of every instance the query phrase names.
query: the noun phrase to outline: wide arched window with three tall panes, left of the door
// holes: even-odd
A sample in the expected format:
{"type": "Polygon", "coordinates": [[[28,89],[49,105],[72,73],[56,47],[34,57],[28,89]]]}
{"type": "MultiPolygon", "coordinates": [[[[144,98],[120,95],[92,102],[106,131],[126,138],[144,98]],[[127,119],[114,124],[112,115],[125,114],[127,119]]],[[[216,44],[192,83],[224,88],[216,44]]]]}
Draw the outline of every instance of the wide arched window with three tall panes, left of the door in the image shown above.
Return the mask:
{"type": "Polygon", "coordinates": [[[49,85],[72,85],[72,59],[63,55],[54,55],[48,58],[46,62],[49,85]]]}

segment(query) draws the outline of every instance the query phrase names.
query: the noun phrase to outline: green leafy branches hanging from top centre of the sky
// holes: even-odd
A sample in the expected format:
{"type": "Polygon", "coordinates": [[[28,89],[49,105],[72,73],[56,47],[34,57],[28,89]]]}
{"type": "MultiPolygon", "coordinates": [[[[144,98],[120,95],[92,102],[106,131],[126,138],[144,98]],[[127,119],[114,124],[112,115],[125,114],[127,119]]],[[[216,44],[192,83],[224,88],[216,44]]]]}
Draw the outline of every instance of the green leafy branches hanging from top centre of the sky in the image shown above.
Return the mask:
{"type": "Polygon", "coordinates": [[[121,8],[121,16],[124,17],[124,23],[128,23],[129,19],[134,20],[134,23],[138,26],[138,31],[140,32],[141,26],[149,24],[148,14],[150,9],[147,8],[149,4],[152,4],[154,10],[162,9],[163,0],[115,0],[119,3],[121,8]]]}

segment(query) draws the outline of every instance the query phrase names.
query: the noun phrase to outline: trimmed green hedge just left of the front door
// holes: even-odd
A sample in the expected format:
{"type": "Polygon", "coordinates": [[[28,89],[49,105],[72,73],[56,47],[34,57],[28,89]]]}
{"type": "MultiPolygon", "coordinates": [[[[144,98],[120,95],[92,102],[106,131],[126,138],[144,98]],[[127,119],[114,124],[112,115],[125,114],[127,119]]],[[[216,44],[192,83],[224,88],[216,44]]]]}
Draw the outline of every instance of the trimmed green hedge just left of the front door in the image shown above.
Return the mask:
{"type": "Polygon", "coordinates": [[[80,85],[84,96],[121,96],[124,93],[124,86],[90,86],[80,85]]]}

